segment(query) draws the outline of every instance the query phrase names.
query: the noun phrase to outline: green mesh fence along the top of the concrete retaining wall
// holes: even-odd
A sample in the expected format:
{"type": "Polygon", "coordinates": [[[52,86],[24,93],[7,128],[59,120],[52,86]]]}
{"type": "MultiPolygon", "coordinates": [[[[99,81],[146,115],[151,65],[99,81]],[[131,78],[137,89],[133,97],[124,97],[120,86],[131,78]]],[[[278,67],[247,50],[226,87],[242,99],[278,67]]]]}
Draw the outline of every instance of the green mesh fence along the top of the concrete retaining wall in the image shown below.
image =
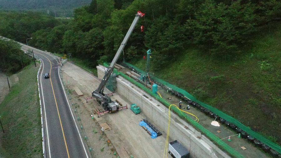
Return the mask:
{"type": "MultiPolygon", "coordinates": [[[[108,64],[104,63],[104,66],[108,67],[108,64]]],[[[134,68],[135,70],[138,71],[137,68],[134,68]]],[[[141,72],[141,71],[140,71],[141,72]]],[[[120,75],[122,77],[124,77],[126,80],[130,81],[131,83],[135,84],[136,86],[138,86],[139,88],[141,88],[143,91],[145,91],[146,93],[150,94],[151,96],[154,96],[156,98],[156,100],[160,101],[162,104],[164,104],[166,107],[169,107],[171,104],[162,99],[160,96],[158,96],[157,94],[152,93],[149,89],[145,88],[145,86],[143,86],[141,83],[136,82],[135,80],[133,80],[132,78],[128,77],[127,75],[125,75],[122,72],[118,72],[116,69],[113,70],[113,73],[116,75],[120,75]]],[[[142,73],[142,72],[141,72],[142,73]]],[[[177,108],[175,108],[175,106],[172,106],[170,108],[172,111],[174,111],[175,113],[177,113],[180,117],[185,118],[191,125],[193,125],[195,128],[197,128],[199,131],[201,131],[202,133],[205,134],[205,136],[207,136],[208,138],[210,138],[213,142],[215,142],[216,144],[218,144],[219,146],[222,147],[222,149],[224,149],[225,151],[227,151],[231,156],[237,157],[237,158],[242,158],[243,156],[241,154],[239,154],[237,151],[235,151],[234,149],[232,149],[230,146],[228,146],[227,144],[225,144],[222,140],[220,140],[217,136],[215,136],[213,133],[211,133],[210,131],[208,131],[207,129],[205,129],[203,126],[201,126],[199,123],[197,123],[196,121],[194,121],[192,118],[190,118],[189,116],[187,116],[185,113],[182,113],[181,111],[179,111],[177,108]]]]}

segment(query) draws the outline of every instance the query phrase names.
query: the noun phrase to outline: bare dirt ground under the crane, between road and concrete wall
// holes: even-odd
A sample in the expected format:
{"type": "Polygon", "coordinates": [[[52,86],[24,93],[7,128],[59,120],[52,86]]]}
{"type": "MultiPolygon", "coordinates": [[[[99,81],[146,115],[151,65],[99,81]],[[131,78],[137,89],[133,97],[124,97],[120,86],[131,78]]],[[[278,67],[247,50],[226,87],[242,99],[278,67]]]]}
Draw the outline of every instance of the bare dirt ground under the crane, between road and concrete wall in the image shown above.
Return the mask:
{"type": "MultiPolygon", "coordinates": [[[[62,67],[62,76],[65,86],[69,89],[74,109],[79,116],[80,121],[78,122],[83,126],[83,131],[88,139],[87,142],[92,148],[93,157],[111,158],[118,155],[121,158],[130,156],[134,158],[160,158],[163,156],[166,135],[164,131],[158,129],[163,135],[156,139],[151,139],[150,135],[139,126],[139,122],[142,118],[145,118],[143,114],[135,115],[128,108],[114,113],[107,113],[97,118],[93,110],[98,108],[103,111],[102,107],[95,99],[89,100],[87,103],[85,100],[86,96],[90,97],[91,92],[100,84],[97,77],[70,62],[67,62],[62,67]],[[76,94],[73,90],[75,86],[81,90],[84,96],[76,94]],[[94,119],[91,119],[91,115],[94,115],[94,119]],[[105,130],[106,135],[101,133],[100,125],[103,123],[107,123],[110,127],[110,129],[105,130]],[[116,151],[117,155],[114,155],[114,151],[116,151]]],[[[105,93],[108,92],[105,90],[105,93]]],[[[123,106],[132,104],[116,93],[111,98],[112,100],[117,99],[123,106]]],[[[83,131],[81,132],[82,135],[83,131]]]]}

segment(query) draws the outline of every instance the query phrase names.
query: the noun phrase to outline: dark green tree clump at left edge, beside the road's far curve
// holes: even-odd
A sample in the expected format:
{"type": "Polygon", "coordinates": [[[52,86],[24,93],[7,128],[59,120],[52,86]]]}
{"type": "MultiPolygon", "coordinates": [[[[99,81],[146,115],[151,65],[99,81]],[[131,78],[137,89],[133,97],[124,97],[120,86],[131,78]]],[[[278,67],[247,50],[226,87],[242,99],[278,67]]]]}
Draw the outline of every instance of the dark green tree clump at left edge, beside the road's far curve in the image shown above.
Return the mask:
{"type": "Polygon", "coordinates": [[[15,73],[31,62],[23,53],[21,46],[13,41],[0,40],[0,70],[15,73]]]}

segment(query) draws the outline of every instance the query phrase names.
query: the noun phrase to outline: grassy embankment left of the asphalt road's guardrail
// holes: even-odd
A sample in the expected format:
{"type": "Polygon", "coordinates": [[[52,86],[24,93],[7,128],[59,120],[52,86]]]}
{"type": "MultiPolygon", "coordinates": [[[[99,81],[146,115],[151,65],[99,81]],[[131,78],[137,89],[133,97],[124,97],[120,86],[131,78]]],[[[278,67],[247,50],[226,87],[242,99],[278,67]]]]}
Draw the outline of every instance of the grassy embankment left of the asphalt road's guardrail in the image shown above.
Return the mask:
{"type": "Polygon", "coordinates": [[[5,131],[0,132],[0,157],[42,157],[37,71],[31,64],[19,72],[19,82],[0,104],[5,131]]]}

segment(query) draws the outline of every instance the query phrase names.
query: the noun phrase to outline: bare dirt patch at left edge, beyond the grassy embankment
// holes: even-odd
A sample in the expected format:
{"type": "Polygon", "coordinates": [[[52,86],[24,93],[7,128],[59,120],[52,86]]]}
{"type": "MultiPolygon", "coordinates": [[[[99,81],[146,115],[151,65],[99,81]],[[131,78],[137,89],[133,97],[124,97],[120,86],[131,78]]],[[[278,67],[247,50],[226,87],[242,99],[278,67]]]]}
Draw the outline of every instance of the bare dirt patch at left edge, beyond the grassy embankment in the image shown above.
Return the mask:
{"type": "MultiPolygon", "coordinates": [[[[8,77],[10,86],[18,82],[17,74],[8,77]]],[[[0,103],[4,100],[5,96],[9,93],[9,86],[6,74],[0,72],[0,103]]]]}

